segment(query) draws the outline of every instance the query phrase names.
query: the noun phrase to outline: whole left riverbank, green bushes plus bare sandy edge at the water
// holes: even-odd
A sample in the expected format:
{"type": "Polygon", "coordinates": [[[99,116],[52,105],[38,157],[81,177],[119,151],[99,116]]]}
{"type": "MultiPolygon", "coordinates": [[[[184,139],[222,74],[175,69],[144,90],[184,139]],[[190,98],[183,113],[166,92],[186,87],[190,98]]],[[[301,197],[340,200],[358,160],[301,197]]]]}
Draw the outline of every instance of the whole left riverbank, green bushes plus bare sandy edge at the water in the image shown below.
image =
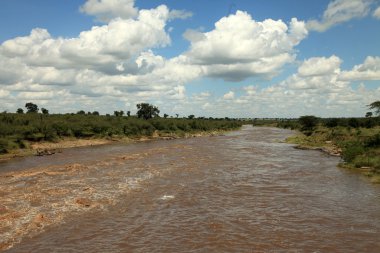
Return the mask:
{"type": "Polygon", "coordinates": [[[62,148],[107,144],[113,141],[171,139],[204,132],[238,129],[236,119],[161,118],[93,114],[0,113],[1,159],[51,155],[62,148]]]}

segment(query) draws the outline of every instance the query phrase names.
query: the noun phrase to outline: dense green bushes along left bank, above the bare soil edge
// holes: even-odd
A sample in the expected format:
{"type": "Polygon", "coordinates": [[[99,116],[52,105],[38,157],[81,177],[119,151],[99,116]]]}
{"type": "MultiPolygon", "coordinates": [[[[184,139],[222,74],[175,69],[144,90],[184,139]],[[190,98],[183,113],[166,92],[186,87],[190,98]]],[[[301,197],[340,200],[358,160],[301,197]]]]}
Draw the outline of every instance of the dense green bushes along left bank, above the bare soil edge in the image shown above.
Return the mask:
{"type": "MultiPolygon", "coordinates": [[[[156,113],[156,112],[155,112],[156,113]]],[[[65,137],[108,138],[140,137],[160,133],[184,133],[238,128],[242,122],[230,119],[161,118],[127,116],[118,111],[114,115],[99,113],[48,114],[0,113],[0,153],[27,148],[29,142],[59,141],[65,137]]],[[[150,115],[150,114],[148,114],[150,115]]]]}

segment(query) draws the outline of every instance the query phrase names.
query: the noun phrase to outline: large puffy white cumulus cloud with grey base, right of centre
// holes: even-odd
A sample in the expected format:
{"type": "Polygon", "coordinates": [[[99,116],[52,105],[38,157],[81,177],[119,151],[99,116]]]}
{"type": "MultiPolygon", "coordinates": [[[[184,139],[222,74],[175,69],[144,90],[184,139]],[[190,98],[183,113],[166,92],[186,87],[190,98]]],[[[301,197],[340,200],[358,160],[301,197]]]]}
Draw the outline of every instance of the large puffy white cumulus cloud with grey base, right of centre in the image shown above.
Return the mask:
{"type": "Polygon", "coordinates": [[[191,47],[185,55],[211,77],[239,81],[250,76],[273,76],[294,61],[294,47],[307,34],[305,23],[295,18],[289,25],[272,19],[258,22],[237,11],[216,22],[212,31],[188,30],[184,37],[191,47]]]}

